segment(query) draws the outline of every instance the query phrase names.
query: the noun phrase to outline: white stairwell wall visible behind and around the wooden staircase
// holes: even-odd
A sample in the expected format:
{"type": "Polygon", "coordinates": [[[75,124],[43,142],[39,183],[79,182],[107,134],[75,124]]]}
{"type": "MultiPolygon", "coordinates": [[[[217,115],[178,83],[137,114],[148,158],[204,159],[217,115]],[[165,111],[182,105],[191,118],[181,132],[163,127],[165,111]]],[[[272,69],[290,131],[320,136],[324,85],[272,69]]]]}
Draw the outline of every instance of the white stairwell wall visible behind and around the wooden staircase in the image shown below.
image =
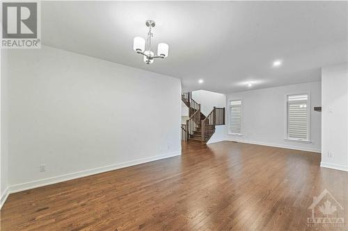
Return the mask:
{"type": "MultiPolygon", "coordinates": [[[[192,92],[192,99],[200,103],[200,111],[207,116],[212,112],[213,108],[226,107],[226,95],[216,92],[209,92],[205,90],[198,90],[192,92]]],[[[207,144],[219,142],[226,139],[226,126],[215,126],[214,135],[209,139],[207,144]]]]}

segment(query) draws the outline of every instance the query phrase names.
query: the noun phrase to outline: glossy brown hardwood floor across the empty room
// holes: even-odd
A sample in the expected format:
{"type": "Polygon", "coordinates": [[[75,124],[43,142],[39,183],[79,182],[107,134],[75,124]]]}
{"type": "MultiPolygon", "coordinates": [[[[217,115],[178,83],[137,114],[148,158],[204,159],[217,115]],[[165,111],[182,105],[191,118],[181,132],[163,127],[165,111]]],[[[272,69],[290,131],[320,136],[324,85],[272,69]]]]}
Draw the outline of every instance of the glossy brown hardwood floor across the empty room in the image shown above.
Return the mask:
{"type": "Polygon", "coordinates": [[[348,173],[319,162],[284,148],[184,145],[181,156],[11,194],[1,230],[320,230],[307,227],[313,196],[329,190],[347,222],[348,173]]]}

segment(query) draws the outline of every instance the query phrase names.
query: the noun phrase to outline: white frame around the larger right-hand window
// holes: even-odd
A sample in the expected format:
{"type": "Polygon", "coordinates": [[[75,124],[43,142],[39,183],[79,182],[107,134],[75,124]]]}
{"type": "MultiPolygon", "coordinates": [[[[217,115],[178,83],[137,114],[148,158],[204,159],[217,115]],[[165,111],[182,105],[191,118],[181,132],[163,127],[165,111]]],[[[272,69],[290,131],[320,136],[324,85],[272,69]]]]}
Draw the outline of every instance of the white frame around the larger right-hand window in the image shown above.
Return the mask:
{"type": "MultiPolygon", "coordinates": [[[[310,112],[311,112],[311,106],[310,106],[310,92],[301,92],[301,93],[291,93],[291,94],[285,94],[285,132],[284,132],[284,139],[286,141],[290,142],[300,142],[300,143],[311,143],[311,123],[310,123],[310,112]],[[296,96],[296,95],[307,95],[307,139],[299,139],[299,138],[293,138],[289,136],[289,96],[296,96]]],[[[300,101],[299,101],[300,102],[300,101]]]]}

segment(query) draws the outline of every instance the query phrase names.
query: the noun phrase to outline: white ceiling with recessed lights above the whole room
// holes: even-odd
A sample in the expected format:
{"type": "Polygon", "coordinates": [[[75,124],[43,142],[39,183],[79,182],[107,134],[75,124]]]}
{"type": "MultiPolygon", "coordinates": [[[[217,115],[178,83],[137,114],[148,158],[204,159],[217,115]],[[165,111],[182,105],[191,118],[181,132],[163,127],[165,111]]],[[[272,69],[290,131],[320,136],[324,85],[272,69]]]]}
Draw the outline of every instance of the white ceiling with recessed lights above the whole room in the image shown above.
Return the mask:
{"type": "Polygon", "coordinates": [[[319,80],[347,62],[347,1],[42,1],[42,43],[180,78],[184,89],[229,93],[319,80]],[[156,21],[169,56],[132,50],[156,21]],[[282,67],[272,67],[273,60],[282,67]],[[198,84],[198,79],[205,82],[198,84]],[[247,83],[253,81],[251,88],[247,83]]]}

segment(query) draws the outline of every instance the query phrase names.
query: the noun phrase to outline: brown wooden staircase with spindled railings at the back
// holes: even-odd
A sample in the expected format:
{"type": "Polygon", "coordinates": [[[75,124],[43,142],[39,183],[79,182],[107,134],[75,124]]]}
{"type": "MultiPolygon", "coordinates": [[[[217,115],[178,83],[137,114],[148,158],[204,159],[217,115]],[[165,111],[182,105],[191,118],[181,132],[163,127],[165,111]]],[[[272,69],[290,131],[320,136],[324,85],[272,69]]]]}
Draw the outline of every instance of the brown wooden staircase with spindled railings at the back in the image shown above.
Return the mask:
{"type": "Polygon", "coordinates": [[[189,108],[189,119],[181,125],[182,141],[207,144],[215,132],[215,126],[225,124],[225,108],[214,107],[207,116],[200,111],[200,104],[191,97],[191,92],[182,93],[182,101],[189,108]]]}

